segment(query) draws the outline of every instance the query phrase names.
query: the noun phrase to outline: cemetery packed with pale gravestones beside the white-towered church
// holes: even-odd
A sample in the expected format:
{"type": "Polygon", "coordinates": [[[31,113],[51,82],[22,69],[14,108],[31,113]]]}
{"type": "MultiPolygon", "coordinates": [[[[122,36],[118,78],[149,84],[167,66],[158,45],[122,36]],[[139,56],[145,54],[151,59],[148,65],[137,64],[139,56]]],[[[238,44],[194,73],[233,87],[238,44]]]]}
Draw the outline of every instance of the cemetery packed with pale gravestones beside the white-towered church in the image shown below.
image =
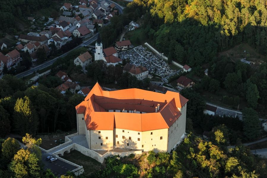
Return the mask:
{"type": "Polygon", "coordinates": [[[147,48],[142,45],[137,46],[131,50],[127,50],[118,53],[121,59],[130,59],[131,64],[135,66],[144,66],[149,72],[159,75],[160,77],[166,77],[170,74],[175,74],[175,70],[169,67],[163,59],[148,51],[147,48]]]}

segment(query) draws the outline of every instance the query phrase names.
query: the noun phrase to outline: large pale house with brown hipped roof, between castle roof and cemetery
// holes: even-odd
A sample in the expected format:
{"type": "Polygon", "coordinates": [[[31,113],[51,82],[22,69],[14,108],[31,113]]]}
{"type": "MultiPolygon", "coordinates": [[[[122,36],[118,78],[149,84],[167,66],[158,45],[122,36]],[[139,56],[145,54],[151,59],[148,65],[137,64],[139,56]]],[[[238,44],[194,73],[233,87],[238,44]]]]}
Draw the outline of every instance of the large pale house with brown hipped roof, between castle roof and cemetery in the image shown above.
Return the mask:
{"type": "Polygon", "coordinates": [[[135,76],[138,80],[147,78],[148,69],[143,66],[134,66],[133,64],[127,63],[123,67],[123,72],[128,72],[132,76],[135,76]]]}

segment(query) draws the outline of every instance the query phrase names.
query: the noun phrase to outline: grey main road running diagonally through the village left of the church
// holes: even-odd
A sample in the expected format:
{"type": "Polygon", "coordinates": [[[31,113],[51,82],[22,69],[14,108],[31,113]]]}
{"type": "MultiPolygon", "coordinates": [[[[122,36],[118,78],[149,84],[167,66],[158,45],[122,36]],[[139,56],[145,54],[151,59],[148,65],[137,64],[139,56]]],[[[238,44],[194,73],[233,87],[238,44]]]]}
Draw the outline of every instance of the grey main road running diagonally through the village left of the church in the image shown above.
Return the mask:
{"type": "MultiPolygon", "coordinates": [[[[98,34],[98,33],[97,33],[97,34],[98,34]]],[[[86,40],[85,42],[83,42],[81,45],[79,45],[79,46],[73,48],[72,50],[78,49],[78,48],[82,47],[83,45],[89,45],[89,44],[91,44],[93,41],[95,41],[95,40],[97,39],[97,34],[95,34],[95,35],[92,36],[90,39],[88,39],[88,40],[86,40]]],[[[45,62],[45,63],[42,63],[42,64],[39,65],[39,66],[36,66],[36,67],[34,67],[34,68],[31,68],[31,69],[28,70],[28,71],[25,71],[25,72],[22,72],[22,73],[20,73],[20,74],[17,74],[16,76],[17,76],[18,78],[22,78],[22,77],[25,77],[25,76],[27,76],[27,75],[30,75],[30,74],[34,73],[34,72],[37,71],[37,70],[46,68],[46,67],[52,65],[58,58],[62,58],[62,57],[64,57],[64,56],[66,56],[66,55],[67,55],[69,52],[71,52],[72,50],[70,50],[70,51],[68,51],[67,53],[64,53],[63,55],[61,55],[61,56],[59,56],[59,57],[56,57],[56,58],[54,58],[54,59],[52,59],[52,60],[50,60],[50,61],[47,61],[47,62],[45,62]]]]}

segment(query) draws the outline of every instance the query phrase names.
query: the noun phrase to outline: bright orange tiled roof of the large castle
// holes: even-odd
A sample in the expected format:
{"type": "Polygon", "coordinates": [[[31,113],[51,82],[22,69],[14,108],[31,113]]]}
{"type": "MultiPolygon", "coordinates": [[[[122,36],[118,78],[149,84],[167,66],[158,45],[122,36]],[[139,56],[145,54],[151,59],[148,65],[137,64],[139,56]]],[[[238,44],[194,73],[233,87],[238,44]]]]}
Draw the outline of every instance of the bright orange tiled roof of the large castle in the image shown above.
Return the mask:
{"type": "Polygon", "coordinates": [[[76,106],[77,114],[84,114],[88,130],[151,131],[169,128],[180,116],[187,99],[180,93],[156,93],[137,88],[104,91],[96,83],[85,101],[76,106]],[[160,109],[155,112],[155,107],[160,109]],[[106,112],[106,110],[137,110],[146,113],[106,112]]]}

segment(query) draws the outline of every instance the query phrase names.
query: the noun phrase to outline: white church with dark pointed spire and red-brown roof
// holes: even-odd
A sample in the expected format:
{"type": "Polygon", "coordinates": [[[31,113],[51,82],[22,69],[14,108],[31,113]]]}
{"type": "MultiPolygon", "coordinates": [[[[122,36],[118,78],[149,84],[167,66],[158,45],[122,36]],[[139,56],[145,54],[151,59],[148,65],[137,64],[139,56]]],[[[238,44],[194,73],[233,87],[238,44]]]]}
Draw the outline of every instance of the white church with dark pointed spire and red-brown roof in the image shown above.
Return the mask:
{"type": "Polygon", "coordinates": [[[96,40],[96,52],[95,52],[95,61],[103,60],[107,63],[107,65],[117,65],[122,63],[122,60],[118,58],[118,53],[114,47],[109,47],[103,49],[103,45],[98,34],[96,40]]]}

